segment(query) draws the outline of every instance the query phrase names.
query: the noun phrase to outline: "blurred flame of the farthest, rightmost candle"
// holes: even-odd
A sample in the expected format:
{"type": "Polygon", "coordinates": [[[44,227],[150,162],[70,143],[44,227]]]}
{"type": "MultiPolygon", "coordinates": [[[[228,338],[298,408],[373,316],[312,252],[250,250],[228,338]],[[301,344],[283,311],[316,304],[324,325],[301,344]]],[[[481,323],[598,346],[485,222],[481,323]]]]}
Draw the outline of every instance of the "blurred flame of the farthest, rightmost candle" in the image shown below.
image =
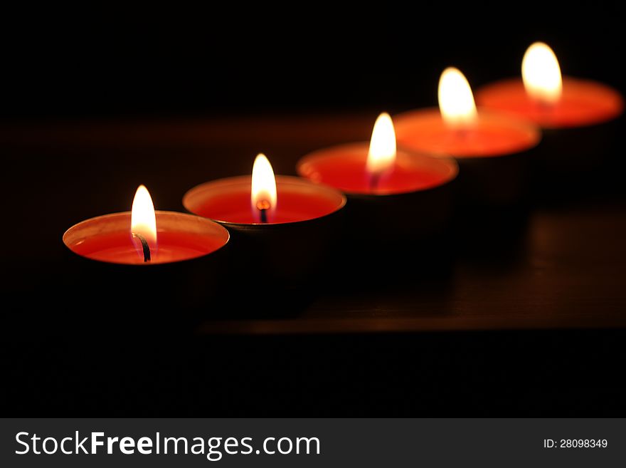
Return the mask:
{"type": "Polygon", "coordinates": [[[521,61],[521,78],[531,98],[542,104],[554,104],[563,93],[561,68],[552,49],[543,42],[532,44],[521,61]]]}

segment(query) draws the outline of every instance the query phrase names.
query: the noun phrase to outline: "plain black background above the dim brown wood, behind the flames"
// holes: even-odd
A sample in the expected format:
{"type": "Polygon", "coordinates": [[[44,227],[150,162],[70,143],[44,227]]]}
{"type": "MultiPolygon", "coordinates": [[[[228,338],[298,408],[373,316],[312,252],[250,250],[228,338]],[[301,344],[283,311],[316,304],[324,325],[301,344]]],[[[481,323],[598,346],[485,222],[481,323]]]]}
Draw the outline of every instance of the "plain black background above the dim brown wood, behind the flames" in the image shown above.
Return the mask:
{"type": "Polygon", "coordinates": [[[0,115],[404,110],[435,105],[443,68],[474,88],[518,75],[534,41],[563,73],[621,86],[620,2],[213,2],[206,11],[7,11],[0,115]],[[413,12],[415,11],[415,12],[413,12]],[[33,13],[33,14],[31,14],[33,13]]]}

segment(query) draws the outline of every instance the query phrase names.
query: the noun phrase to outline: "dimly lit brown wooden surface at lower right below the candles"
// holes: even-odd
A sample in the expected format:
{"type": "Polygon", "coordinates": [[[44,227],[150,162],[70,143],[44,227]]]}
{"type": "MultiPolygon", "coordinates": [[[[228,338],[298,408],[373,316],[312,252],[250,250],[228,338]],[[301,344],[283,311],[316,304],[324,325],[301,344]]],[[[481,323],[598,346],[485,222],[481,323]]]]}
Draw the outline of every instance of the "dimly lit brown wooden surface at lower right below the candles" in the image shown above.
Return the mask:
{"type": "MultiPolygon", "coordinates": [[[[623,327],[625,213],[622,204],[541,210],[531,214],[523,238],[512,241],[512,251],[501,251],[505,258],[500,256],[495,264],[485,264],[485,258],[458,259],[450,275],[438,281],[422,277],[395,287],[336,291],[316,298],[295,318],[205,321],[201,330],[366,333],[623,327]]],[[[408,271],[414,267],[406,266],[408,271]]]]}

